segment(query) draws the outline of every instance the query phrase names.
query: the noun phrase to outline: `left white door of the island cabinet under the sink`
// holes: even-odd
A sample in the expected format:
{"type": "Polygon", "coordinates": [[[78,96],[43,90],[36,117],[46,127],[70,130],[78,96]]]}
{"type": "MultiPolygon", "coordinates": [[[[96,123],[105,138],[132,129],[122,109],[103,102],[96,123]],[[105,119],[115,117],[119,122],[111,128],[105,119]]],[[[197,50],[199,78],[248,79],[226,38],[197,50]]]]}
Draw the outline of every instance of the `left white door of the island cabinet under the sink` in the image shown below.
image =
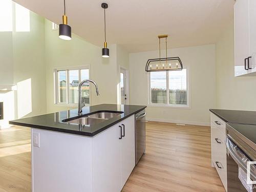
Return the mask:
{"type": "Polygon", "coordinates": [[[121,140],[118,125],[93,139],[93,191],[121,191],[121,140]]]}

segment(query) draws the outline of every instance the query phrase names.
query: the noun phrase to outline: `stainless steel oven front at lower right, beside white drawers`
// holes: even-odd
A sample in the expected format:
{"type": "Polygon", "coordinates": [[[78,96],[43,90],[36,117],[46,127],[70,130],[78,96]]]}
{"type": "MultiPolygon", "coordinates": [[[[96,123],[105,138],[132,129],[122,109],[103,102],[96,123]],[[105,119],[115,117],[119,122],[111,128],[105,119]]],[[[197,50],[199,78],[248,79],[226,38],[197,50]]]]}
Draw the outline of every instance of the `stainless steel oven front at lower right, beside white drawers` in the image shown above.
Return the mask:
{"type": "Polygon", "coordinates": [[[239,136],[236,130],[227,125],[227,192],[256,192],[256,184],[250,183],[256,181],[255,164],[251,163],[249,169],[247,167],[248,162],[256,161],[256,152],[245,142],[245,138],[239,136]]]}

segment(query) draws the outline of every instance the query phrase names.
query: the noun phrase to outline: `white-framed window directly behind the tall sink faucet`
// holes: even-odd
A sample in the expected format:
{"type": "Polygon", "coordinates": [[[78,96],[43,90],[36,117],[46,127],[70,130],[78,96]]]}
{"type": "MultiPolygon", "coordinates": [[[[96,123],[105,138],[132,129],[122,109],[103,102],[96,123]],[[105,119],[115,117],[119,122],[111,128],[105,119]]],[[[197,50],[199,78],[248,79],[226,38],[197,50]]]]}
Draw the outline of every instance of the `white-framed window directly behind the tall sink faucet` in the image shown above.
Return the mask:
{"type": "MultiPolygon", "coordinates": [[[[76,105],[78,103],[78,86],[84,79],[89,79],[89,68],[56,69],[55,76],[55,103],[76,105]]],[[[90,86],[82,86],[82,98],[90,104],[90,86]]]]}

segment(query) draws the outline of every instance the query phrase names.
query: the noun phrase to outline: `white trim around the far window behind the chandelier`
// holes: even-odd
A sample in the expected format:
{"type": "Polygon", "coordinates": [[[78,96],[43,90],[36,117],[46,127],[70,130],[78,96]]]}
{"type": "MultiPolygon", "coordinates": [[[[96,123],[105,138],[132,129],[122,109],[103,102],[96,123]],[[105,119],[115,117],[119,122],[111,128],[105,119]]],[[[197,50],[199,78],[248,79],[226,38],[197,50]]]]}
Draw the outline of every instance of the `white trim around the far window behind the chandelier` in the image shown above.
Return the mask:
{"type": "MultiPolygon", "coordinates": [[[[173,108],[173,109],[191,109],[191,103],[190,103],[190,70],[189,67],[183,67],[183,69],[186,69],[186,80],[187,80],[187,104],[168,104],[169,103],[169,92],[166,92],[167,96],[167,103],[152,103],[151,102],[151,79],[150,79],[150,72],[147,73],[147,82],[148,82],[148,106],[153,106],[153,107],[164,107],[164,108],[173,108]]],[[[169,73],[166,75],[166,90],[169,89],[169,73]]]]}

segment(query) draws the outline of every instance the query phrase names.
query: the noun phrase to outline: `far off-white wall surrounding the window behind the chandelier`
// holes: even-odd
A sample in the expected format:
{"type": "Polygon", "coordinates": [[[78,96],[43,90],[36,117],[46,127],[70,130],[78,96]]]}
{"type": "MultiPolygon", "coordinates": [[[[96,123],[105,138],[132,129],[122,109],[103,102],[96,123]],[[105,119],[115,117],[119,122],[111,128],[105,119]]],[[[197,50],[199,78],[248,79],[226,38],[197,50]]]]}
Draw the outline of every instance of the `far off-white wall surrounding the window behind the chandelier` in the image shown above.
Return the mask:
{"type": "Polygon", "coordinates": [[[186,124],[209,125],[209,109],[216,106],[215,45],[168,50],[188,67],[190,109],[148,105],[147,59],[158,58],[158,51],[130,54],[130,103],[148,105],[147,119],[186,124]]]}

